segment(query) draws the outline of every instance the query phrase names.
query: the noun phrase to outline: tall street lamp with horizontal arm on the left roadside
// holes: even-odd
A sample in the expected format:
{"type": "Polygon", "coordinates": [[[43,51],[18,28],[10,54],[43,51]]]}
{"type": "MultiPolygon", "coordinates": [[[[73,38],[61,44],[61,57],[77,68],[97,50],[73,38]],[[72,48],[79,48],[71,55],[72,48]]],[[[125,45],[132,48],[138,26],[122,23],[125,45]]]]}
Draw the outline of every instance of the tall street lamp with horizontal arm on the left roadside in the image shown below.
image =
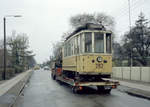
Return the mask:
{"type": "Polygon", "coordinates": [[[4,20],[4,72],[3,79],[6,79],[6,18],[7,17],[21,17],[21,15],[7,15],[3,18],[4,20]]]}

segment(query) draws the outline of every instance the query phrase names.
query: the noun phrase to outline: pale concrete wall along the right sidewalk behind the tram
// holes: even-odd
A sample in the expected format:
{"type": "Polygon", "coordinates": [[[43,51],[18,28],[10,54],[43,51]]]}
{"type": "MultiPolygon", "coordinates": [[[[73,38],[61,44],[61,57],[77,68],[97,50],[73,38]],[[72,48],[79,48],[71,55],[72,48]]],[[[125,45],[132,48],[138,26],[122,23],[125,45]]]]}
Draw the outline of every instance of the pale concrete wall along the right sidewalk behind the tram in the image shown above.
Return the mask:
{"type": "Polygon", "coordinates": [[[113,67],[112,77],[150,82],[150,67],[113,67]]]}

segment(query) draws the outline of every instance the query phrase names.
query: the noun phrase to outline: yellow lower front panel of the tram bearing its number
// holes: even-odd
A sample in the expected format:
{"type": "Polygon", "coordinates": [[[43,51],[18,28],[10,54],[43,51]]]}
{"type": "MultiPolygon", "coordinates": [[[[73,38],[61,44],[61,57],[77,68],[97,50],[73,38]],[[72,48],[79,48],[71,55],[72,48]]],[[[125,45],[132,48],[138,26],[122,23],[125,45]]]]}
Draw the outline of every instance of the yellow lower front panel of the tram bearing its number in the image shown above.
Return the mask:
{"type": "MultiPolygon", "coordinates": [[[[80,73],[93,73],[101,75],[111,75],[112,73],[112,56],[111,55],[84,55],[80,57],[82,64],[80,73]],[[100,62],[97,58],[101,57],[100,62]]],[[[79,61],[79,63],[80,63],[79,61]]]]}

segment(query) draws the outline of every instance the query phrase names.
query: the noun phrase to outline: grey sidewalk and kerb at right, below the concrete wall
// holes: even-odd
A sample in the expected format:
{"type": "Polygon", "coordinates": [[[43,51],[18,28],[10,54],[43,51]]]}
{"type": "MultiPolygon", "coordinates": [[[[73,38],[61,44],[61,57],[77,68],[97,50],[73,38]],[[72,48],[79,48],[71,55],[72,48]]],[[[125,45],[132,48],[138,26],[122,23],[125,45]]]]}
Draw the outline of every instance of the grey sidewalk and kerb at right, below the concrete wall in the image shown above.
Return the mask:
{"type": "Polygon", "coordinates": [[[142,83],[130,80],[118,80],[121,86],[126,86],[124,91],[130,95],[142,97],[150,100],[150,83],[142,83]]]}

